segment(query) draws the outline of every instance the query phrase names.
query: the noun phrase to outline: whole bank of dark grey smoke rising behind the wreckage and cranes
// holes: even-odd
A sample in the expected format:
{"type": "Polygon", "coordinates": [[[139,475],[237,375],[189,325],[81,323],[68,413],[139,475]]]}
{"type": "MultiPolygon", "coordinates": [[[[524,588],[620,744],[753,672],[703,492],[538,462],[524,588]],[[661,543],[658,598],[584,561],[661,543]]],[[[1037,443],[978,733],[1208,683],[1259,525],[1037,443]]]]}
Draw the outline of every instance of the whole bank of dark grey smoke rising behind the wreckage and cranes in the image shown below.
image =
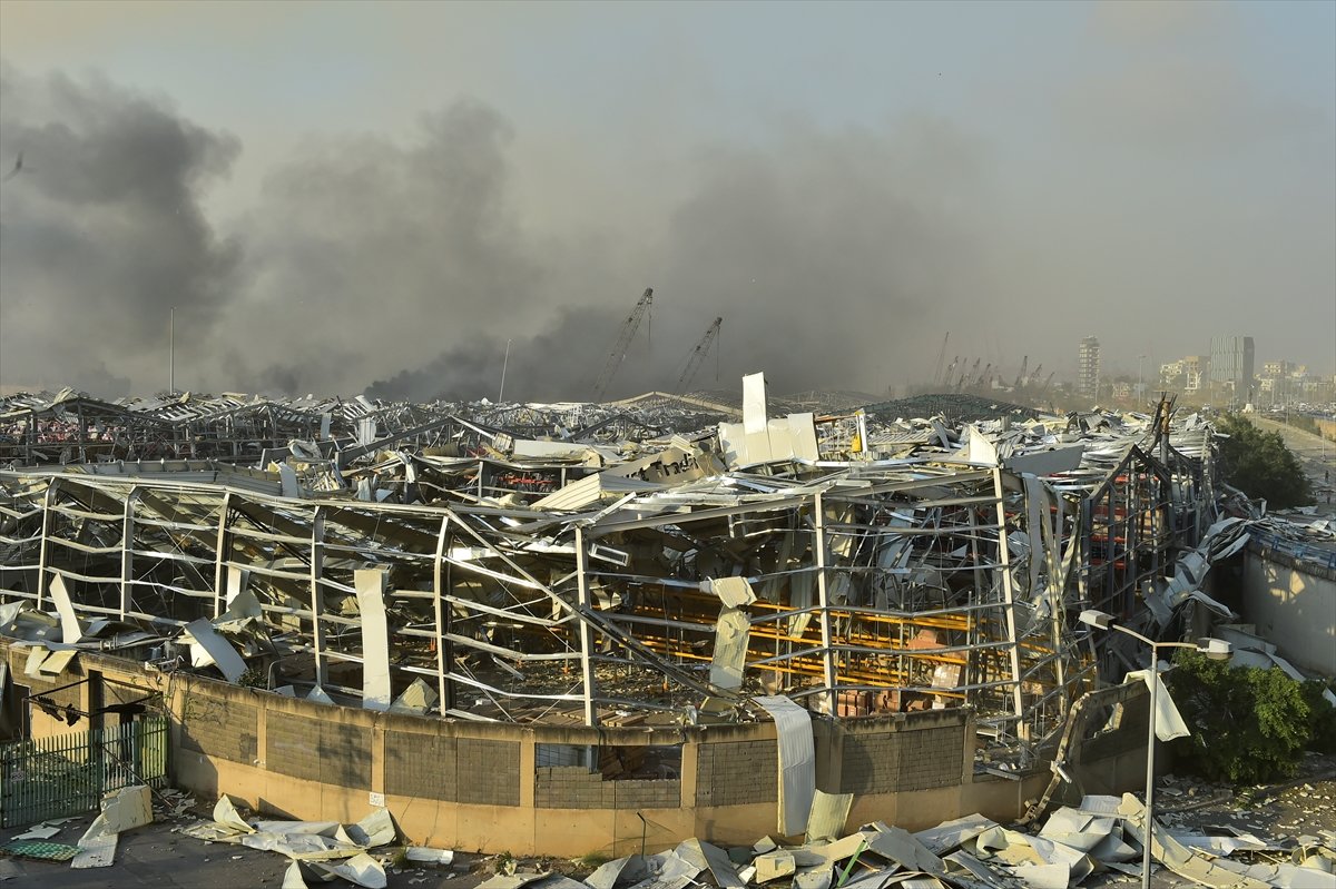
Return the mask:
{"type": "Polygon", "coordinates": [[[102,80],[5,68],[3,91],[0,158],[36,168],[0,208],[7,378],[96,390],[104,366],[160,388],[175,306],[182,387],[494,398],[509,342],[508,399],[584,399],[655,287],[609,396],[675,390],[716,315],[692,388],[766,371],[776,392],[880,392],[981,288],[979,164],[935,120],[705,145],[663,180],[609,174],[631,200],[544,228],[522,188],[541,159],[460,100],[410,139],[311,137],[219,238],[199,198],[235,139],[102,80]]]}

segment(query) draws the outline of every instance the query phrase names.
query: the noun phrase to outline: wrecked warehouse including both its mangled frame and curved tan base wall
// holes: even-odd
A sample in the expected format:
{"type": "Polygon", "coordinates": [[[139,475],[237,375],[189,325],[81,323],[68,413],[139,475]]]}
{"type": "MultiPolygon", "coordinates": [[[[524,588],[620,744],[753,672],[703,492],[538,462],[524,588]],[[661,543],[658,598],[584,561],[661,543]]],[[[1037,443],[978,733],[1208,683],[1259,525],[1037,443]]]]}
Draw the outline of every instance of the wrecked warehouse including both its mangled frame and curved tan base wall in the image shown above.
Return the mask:
{"type": "Polygon", "coordinates": [[[1134,784],[1141,654],[1075,615],[1230,614],[1202,581],[1246,502],[1210,424],[803,407],[762,375],[740,400],[11,400],[4,691],[48,734],[158,731],[136,773],[307,818],[370,792],[456,848],[620,853],[645,812],[660,842],[741,838],[776,802],[800,833],[814,788],[927,825],[1134,784]]]}

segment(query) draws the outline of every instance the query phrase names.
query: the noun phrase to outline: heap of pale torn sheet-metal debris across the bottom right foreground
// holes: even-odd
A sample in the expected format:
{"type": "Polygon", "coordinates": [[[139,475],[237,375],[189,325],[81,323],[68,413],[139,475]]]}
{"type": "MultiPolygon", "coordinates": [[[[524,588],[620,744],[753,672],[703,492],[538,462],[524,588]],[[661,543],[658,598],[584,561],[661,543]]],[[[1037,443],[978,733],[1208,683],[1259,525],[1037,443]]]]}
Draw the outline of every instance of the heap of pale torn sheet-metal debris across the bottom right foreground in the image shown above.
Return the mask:
{"type": "MultiPolygon", "coordinates": [[[[847,808],[844,809],[847,814],[847,808]]],[[[836,816],[838,817],[838,816],[836,816]]],[[[908,833],[875,822],[854,833],[810,825],[807,842],[770,837],[752,848],[721,849],[688,840],[651,856],[609,861],[584,877],[588,889],[1067,889],[1140,878],[1145,809],[1128,794],[1085,797],[1053,812],[1030,832],[969,816],[908,833]]],[[[1205,886],[1321,889],[1336,886],[1336,834],[1280,841],[1246,832],[1153,830],[1153,866],[1205,886]]],[[[581,884],[550,868],[521,865],[481,884],[485,889],[572,889],[581,884]]]]}

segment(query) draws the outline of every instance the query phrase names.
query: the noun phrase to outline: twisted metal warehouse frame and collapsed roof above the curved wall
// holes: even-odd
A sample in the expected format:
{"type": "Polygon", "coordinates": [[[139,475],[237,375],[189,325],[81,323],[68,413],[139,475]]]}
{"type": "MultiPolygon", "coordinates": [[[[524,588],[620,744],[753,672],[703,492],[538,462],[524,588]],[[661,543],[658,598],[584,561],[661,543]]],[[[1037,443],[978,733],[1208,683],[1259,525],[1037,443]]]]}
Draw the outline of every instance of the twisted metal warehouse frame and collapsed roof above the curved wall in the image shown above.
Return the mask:
{"type": "MultiPolygon", "coordinates": [[[[595,406],[399,407],[377,436],[363,399],[345,439],[286,408],[325,436],[282,457],[176,436],[258,443],[258,467],[11,469],[0,631],[461,719],[748,719],[762,693],[835,717],[969,706],[1026,764],[1093,687],[1075,611],[1168,625],[1204,598],[1177,565],[1217,509],[1194,416],[775,419],[745,382],[740,422],[639,440],[701,406],[604,408],[574,434],[595,406]]],[[[203,414],[235,430],[239,407],[203,414]]]]}

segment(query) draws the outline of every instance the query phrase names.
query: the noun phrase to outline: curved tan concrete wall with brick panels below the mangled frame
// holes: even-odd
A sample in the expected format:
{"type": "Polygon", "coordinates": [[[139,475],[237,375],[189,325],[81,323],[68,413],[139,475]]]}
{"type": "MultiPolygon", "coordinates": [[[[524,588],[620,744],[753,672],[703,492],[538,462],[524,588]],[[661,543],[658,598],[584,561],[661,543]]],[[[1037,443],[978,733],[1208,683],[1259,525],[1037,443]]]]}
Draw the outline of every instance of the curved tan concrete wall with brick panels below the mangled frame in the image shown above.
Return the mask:
{"type": "MultiPolygon", "coordinates": [[[[172,780],[203,800],[227,793],[273,814],[347,822],[383,798],[410,842],[514,854],[621,856],[639,852],[643,833],[652,849],[688,837],[749,845],[776,829],[772,722],[599,730],[442,721],[151,673],[87,653],[39,682],[23,674],[24,649],[5,655],[15,681],[35,693],[92,679],[60,693],[84,709],[99,694],[110,702],[159,691],[172,715],[172,780]],[[649,748],[665,765],[649,780],[605,780],[597,764],[553,762],[589,746],[613,754],[649,748]]],[[[33,734],[72,730],[32,710],[33,734]]],[[[851,825],[882,820],[915,830],[974,812],[1010,820],[1051,777],[1046,768],[975,776],[969,710],[818,718],[812,726],[816,786],[855,794],[851,825]]],[[[1108,774],[1134,784],[1144,764],[1136,744],[1108,753],[1108,774]]]]}

